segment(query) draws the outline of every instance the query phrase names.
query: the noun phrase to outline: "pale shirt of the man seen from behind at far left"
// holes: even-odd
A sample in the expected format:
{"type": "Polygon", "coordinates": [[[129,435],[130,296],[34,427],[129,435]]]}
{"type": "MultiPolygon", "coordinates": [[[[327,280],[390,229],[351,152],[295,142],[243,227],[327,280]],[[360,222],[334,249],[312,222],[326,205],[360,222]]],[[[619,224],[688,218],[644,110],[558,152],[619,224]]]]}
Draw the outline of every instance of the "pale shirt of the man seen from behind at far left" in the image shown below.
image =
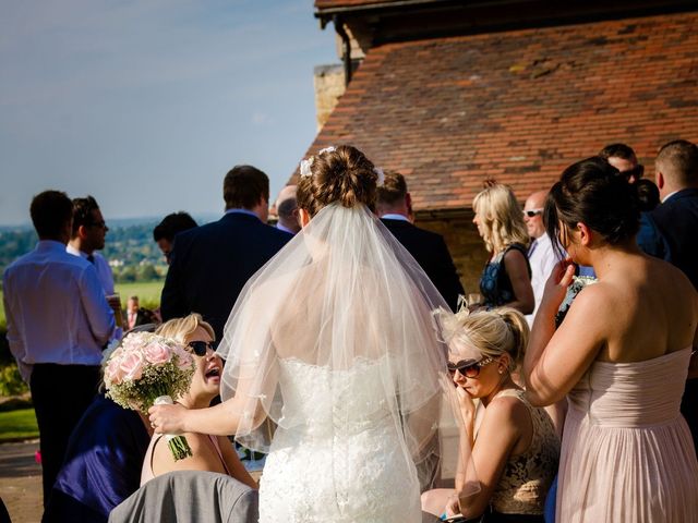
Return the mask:
{"type": "Polygon", "coordinates": [[[43,240],[5,269],[2,281],[8,342],[27,382],[35,363],[101,363],[115,317],[89,262],[43,240]]]}

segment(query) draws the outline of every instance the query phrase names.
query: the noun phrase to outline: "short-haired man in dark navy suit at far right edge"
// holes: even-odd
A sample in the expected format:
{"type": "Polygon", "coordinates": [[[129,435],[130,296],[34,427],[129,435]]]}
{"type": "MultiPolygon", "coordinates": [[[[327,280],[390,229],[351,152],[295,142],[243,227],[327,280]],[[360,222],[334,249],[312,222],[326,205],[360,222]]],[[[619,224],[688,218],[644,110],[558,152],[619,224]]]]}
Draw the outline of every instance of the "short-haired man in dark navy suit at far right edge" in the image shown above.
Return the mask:
{"type": "MultiPolygon", "coordinates": [[[[637,243],[647,254],[678,267],[698,290],[698,146],[685,139],[670,142],[654,166],[662,203],[642,215],[637,243]]],[[[698,358],[693,364],[681,412],[698,452],[698,358]]]]}

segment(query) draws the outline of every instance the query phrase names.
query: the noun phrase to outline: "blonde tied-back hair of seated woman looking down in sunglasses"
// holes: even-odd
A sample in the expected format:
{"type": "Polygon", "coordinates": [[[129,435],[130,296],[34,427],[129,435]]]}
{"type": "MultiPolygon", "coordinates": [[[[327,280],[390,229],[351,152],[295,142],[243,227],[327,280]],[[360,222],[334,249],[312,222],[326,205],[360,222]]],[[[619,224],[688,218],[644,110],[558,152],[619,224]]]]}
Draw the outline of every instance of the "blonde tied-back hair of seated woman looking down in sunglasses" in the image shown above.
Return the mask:
{"type": "Polygon", "coordinates": [[[482,357],[509,355],[508,370],[521,361],[528,344],[529,327],[521,313],[510,307],[457,315],[457,328],[450,343],[473,348],[482,357]],[[460,316],[460,317],[458,317],[460,316]]]}

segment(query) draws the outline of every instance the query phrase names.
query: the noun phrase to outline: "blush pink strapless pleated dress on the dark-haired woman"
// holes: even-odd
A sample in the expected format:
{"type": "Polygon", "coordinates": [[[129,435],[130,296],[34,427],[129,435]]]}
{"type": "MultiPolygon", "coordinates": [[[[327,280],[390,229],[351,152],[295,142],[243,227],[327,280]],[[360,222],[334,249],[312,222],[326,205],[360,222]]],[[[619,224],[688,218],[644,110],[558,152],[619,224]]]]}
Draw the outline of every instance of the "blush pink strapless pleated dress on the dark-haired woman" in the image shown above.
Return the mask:
{"type": "Polygon", "coordinates": [[[698,522],[698,463],[679,413],[690,349],[595,362],[568,394],[556,521],[698,522]]]}

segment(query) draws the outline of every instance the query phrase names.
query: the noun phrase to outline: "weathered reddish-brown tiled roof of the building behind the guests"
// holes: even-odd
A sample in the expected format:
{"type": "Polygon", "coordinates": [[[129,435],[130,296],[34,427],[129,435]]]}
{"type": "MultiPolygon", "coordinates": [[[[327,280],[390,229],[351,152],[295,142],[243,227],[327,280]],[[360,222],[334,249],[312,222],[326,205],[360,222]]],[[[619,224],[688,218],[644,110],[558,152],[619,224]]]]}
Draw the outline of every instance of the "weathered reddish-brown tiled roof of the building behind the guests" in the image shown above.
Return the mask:
{"type": "Polygon", "coordinates": [[[369,51],[309,154],[348,143],[402,172],[417,209],[524,199],[613,142],[647,172],[698,141],[698,13],[389,44],[369,51]]]}

